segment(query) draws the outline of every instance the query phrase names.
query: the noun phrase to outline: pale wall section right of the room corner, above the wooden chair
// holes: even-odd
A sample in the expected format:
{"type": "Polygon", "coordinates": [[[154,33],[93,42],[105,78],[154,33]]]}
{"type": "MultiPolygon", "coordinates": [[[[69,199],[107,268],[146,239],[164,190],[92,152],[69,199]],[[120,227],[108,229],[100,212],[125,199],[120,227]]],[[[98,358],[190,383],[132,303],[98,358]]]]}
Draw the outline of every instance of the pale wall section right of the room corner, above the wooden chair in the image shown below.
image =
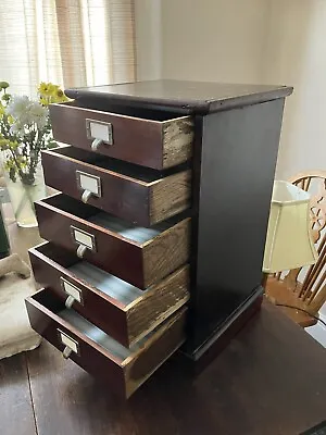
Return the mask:
{"type": "Polygon", "coordinates": [[[326,2],[268,3],[261,82],[294,86],[287,101],[277,175],[326,170],[326,2]]]}

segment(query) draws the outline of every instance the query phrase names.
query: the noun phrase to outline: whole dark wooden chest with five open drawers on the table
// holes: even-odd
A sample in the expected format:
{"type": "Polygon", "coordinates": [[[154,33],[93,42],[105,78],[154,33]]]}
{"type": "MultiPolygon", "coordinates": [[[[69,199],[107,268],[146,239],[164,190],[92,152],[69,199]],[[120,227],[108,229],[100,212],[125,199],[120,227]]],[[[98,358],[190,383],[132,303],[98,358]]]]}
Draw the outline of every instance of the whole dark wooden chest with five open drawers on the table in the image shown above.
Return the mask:
{"type": "Polygon", "coordinates": [[[288,87],[70,89],[36,203],[32,326],[129,397],[173,352],[224,345],[260,306],[288,87]]]}

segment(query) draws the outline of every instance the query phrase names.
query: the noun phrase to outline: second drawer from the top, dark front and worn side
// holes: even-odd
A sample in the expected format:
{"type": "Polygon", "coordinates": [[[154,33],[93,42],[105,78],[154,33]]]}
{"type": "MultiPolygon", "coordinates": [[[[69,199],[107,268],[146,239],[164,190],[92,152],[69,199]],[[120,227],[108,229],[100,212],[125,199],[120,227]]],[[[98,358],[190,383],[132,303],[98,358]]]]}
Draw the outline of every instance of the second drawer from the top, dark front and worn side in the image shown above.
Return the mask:
{"type": "MultiPolygon", "coordinates": [[[[70,156],[64,147],[42,152],[46,184],[129,222],[150,226],[190,206],[190,171],[142,182],[70,156]]],[[[88,157],[85,153],[80,158],[88,157]]]]}

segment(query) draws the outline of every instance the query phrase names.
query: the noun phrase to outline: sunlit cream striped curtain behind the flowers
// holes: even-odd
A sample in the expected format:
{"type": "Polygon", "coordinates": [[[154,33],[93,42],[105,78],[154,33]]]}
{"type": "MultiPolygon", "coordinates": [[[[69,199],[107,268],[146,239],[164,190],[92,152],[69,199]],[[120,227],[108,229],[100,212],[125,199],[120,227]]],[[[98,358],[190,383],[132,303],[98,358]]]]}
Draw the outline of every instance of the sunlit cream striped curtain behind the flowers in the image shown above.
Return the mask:
{"type": "Polygon", "coordinates": [[[29,95],[131,82],[134,24],[133,0],[0,0],[0,80],[29,95]]]}

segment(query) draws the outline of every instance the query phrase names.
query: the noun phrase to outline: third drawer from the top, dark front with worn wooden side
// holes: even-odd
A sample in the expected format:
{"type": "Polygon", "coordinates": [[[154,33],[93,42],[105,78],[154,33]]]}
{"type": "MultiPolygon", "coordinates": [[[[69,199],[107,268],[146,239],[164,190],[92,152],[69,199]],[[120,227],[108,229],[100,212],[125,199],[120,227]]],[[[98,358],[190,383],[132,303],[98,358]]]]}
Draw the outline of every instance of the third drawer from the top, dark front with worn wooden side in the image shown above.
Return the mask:
{"type": "MultiPolygon", "coordinates": [[[[57,195],[35,203],[42,238],[74,251],[113,275],[146,289],[188,261],[190,219],[185,219],[145,244],[138,244],[117,233],[53,207],[73,199],[57,195]],[[59,200],[59,201],[58,201],[59,200]]],[[[90,206],[76,204],[79,215],[90,206]]],[[[92,209],[92,208],[91,208],[92,209]]]]}

